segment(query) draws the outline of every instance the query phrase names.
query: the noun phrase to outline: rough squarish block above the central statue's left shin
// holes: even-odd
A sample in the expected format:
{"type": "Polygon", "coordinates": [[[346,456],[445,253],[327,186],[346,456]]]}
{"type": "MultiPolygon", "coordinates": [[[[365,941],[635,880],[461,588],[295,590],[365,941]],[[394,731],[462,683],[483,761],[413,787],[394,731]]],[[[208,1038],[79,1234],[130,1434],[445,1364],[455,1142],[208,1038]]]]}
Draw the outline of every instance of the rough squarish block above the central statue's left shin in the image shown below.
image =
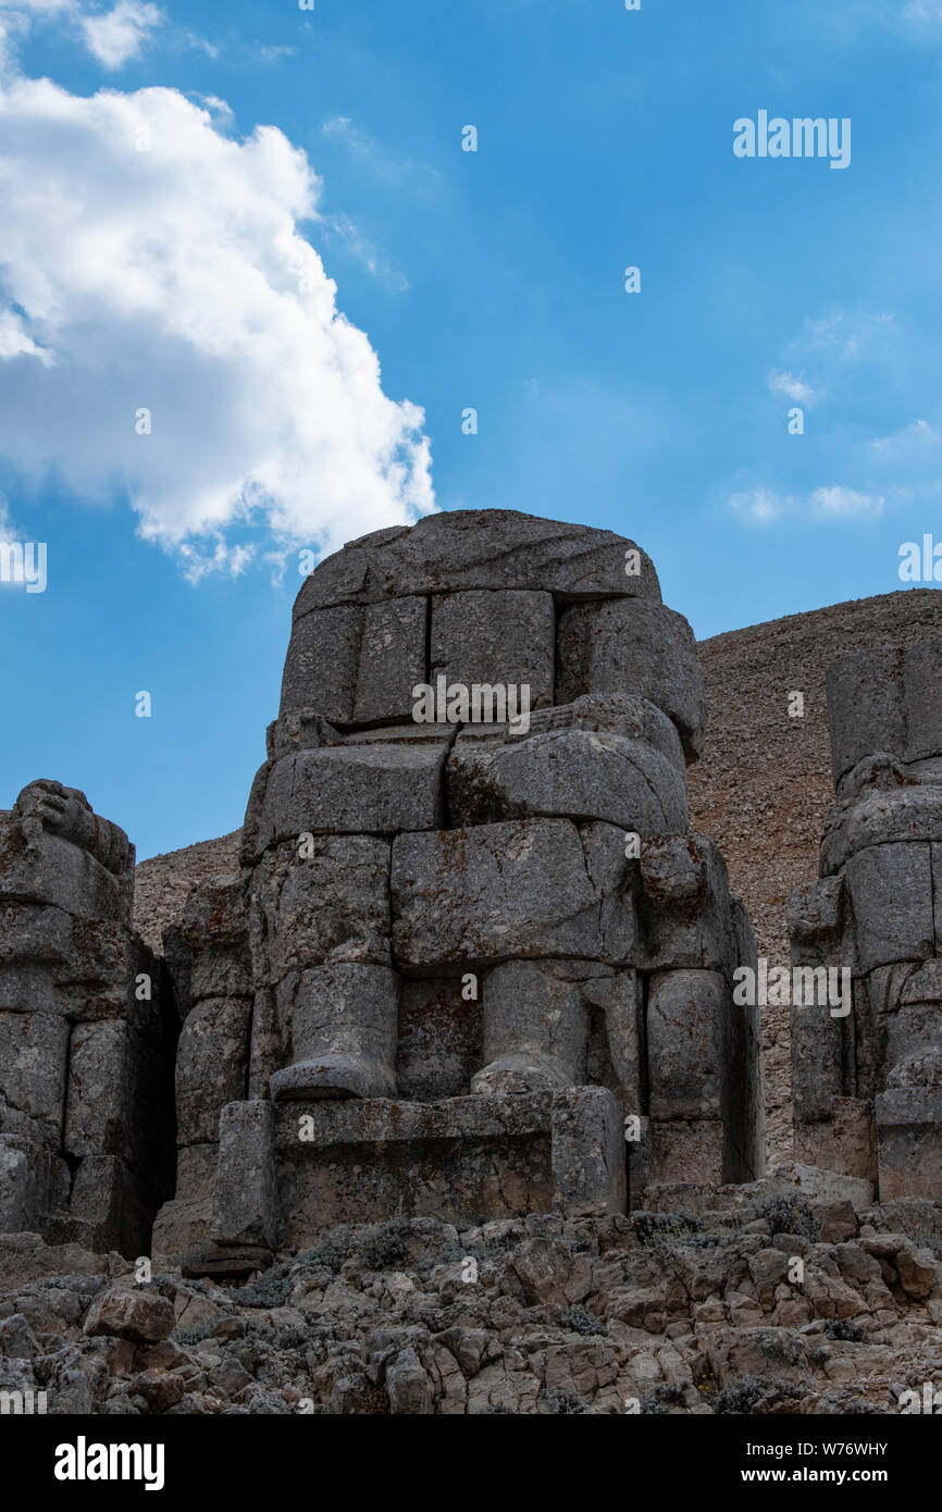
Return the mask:
{"type": "Polygon", "coordinates": [[[268,851],[253,877],[253,962],[259,983],[333,962],[389,965],[390,844],[321,835],[298,854],[268,851]]]}

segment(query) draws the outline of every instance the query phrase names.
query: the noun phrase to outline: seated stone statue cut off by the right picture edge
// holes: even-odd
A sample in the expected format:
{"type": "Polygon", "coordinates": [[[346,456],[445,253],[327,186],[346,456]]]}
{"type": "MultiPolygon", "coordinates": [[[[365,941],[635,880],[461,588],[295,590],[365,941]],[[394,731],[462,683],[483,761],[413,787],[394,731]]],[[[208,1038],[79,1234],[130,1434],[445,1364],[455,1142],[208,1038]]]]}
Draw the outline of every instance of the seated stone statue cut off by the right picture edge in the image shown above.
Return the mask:
{"type": "Polygon", "coordinates": [[[942,641],[827,670],[838,801],[821,877],[789,909],[792,963],[851,974],[853,1010],[792,1005],[795,1154],[942,1191],[942,641]]]}

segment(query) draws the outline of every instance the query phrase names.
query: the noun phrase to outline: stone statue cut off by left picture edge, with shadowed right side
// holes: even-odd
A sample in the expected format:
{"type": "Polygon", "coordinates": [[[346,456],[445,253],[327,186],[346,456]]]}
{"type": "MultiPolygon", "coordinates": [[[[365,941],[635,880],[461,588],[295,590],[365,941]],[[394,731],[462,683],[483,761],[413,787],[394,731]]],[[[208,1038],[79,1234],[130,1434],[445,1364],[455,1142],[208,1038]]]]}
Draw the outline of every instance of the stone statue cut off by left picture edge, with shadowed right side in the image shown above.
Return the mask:
{"type": "Polygon", "coordinates": [[[172,1191],[175,1015],[133,866],[73,788],[0,813],[0,1232],[148,1253],[172,1191]]]}

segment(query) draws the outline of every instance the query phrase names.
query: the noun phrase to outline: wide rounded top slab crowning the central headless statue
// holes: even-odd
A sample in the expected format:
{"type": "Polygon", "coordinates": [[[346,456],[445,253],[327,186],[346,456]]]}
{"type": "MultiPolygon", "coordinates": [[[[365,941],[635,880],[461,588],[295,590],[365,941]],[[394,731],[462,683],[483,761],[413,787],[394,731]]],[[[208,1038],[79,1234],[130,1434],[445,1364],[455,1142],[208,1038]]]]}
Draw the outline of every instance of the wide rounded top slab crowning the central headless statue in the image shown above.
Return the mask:
{"type": "Polygon", "coordinates": [[[516,510],[449,510],[411,529],[375,531],[321,562],[298,594],[295,620],[327,605],[475,588],[537,590],[561,603],[609,596],[661,602],[650,558],[611,531],[516,510]]]}

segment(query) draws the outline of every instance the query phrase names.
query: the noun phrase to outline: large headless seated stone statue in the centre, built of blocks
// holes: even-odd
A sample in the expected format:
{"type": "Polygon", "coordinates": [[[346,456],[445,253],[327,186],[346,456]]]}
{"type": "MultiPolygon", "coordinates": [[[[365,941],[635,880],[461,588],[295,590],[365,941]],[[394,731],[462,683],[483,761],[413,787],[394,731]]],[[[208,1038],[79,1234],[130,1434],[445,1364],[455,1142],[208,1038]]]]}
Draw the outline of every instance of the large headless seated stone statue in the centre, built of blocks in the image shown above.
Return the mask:
{"type": "MultiPolygon", "coordinates": [[[[730,990],[755,947],[688,832],[702,733],[689,626],[611,532],[458,511],[311,573],[243,827],[239,1036],[212,969],[187,998],[181,1057],[206,1012],[246,1089],[207,1269],[339,1219],[623,1210],[626,1158],[635,1202],[761,1175],[759,1034],[730,990]]],[[[186,1146],[206,1169],[222,1095],[186,1146]]]]}

